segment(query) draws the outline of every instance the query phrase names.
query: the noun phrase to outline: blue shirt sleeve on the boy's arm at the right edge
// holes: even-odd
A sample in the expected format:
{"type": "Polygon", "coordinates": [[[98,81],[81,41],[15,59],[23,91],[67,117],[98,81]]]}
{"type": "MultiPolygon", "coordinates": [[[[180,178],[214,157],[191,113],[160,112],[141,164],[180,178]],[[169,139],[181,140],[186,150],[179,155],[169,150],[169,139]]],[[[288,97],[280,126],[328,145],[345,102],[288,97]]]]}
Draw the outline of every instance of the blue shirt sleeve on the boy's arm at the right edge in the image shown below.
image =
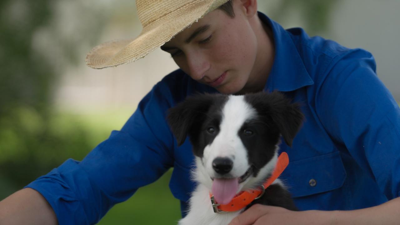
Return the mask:
{"type": "Polygon", "coordinates": [[[378,79],[370,53],[353,50],[334,60],[316,95],[318,116],[382,193],[389,200],[396,198],[400,191],[398,104],[378,79]]]}

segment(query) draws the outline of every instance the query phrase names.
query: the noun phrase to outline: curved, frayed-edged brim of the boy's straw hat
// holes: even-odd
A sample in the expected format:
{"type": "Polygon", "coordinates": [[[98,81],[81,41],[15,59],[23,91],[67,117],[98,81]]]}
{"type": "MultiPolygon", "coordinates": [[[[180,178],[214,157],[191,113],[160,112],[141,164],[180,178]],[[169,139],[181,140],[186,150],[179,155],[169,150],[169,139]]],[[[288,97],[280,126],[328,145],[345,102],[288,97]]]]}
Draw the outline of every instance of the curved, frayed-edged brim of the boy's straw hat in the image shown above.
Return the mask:
{"type": "Polygon", "coordinates": [[[130,40],[114,40],[94,47],[86,56],[86,64],[101,69],[134,62],[159,48],[176,34],[221,5],[221,0],[194,0],[159,18],[130,40]]]}

